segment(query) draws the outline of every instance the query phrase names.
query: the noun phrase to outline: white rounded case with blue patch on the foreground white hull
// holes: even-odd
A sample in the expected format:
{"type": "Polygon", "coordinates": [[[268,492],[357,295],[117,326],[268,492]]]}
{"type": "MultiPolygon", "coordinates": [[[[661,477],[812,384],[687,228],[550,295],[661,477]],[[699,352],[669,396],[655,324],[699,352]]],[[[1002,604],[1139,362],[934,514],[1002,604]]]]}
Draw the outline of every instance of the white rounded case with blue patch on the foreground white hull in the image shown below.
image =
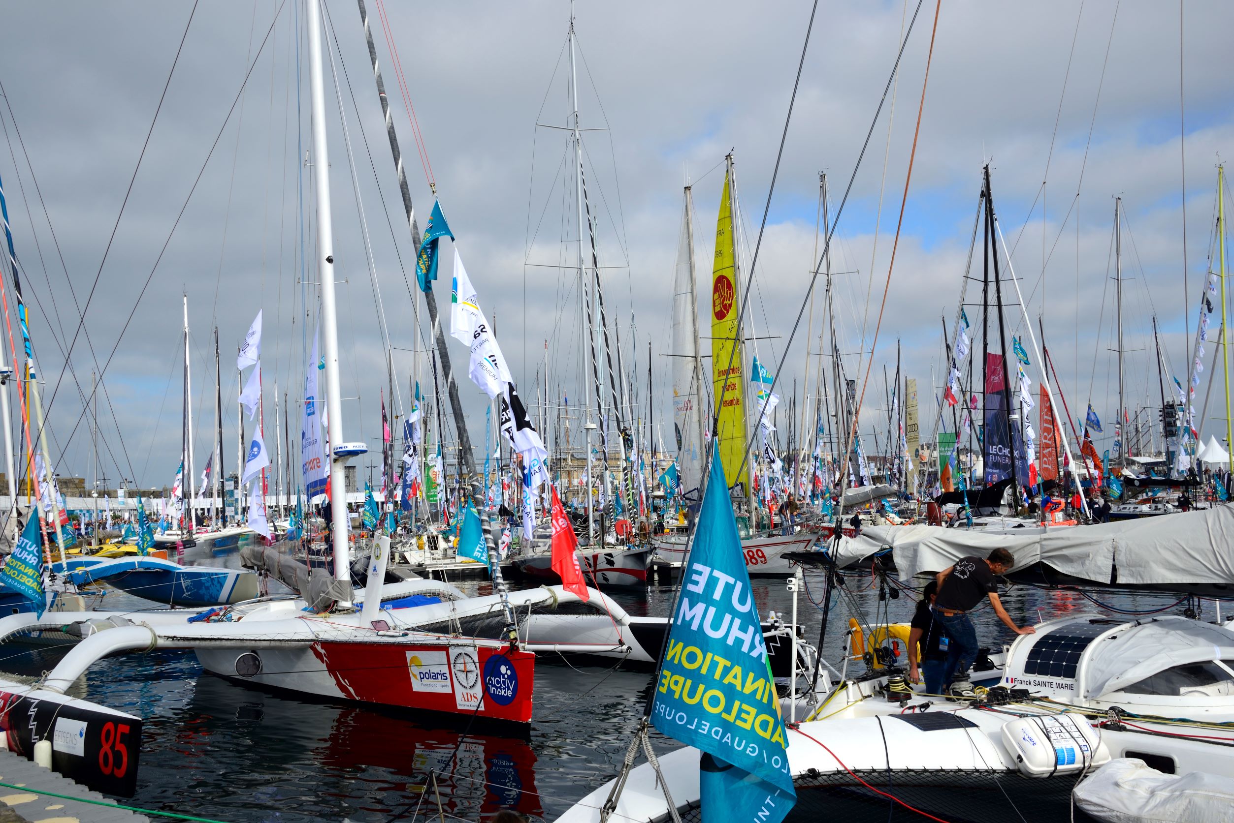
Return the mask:
{"type": "Polygon", "coordinates": [[[1002,738],[1025,777],[1074,774],[1109,761],[1109,749],[1079,712],[1018,717],[1003,724],[1002,738]]]}

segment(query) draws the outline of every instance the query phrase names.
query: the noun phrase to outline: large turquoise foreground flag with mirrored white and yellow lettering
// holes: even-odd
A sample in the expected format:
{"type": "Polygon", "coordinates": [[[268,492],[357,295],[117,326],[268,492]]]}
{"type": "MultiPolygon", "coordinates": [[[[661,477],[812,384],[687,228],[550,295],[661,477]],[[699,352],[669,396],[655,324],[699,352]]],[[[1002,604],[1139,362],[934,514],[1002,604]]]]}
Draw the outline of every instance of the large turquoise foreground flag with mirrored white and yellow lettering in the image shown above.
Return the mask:
{"type": "Polygon", "coordinates": [[[652,722],[703,753],[702,819],[779,823],[797,802],[784,720],[718,460],[684,569],[652,722]]]}

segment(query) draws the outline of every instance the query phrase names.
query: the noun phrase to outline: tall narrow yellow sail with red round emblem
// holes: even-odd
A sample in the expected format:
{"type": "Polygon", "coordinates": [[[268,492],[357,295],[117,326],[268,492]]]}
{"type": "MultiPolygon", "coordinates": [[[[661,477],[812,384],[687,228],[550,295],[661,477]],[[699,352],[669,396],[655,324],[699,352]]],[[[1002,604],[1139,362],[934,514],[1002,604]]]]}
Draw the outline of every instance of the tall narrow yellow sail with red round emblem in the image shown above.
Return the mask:
{"type": "Polygon", "coordinates": [[[719,437],[717,456],[724,466],[724,482],[733,488],[743,479],[737,472],[745,462],[742,460],[745,451],[745,379],[742,377],[744,356],[737,324],[740,302],[737,298],[731,172],[729,166],[724,172],[724,193],[716,221],[716,262],[711,270],[711,363],[712,397],[717,403],[716,436],[719,437]]]}

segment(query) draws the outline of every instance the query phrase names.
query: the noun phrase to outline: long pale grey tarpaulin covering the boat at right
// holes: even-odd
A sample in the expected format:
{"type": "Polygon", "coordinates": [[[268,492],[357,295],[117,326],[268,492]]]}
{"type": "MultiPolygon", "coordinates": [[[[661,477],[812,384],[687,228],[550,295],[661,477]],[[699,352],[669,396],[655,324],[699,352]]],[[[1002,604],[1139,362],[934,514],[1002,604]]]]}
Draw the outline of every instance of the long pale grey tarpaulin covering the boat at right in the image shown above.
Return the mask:
{"type": "Polygon", "coordinates": [[[900,577],[907,579],[945,569],[965,556],[986,556],[995,548],[1006,548],[1016,557],[1016,569],[1040,563],[1103,585],[1234,584],[1230,535],[1234,535],[1230,505],[1122,522],[1011,532],[868,526],[860,537],[840,538],[837,562],[848,566],[891,548],[900,577]]]}

